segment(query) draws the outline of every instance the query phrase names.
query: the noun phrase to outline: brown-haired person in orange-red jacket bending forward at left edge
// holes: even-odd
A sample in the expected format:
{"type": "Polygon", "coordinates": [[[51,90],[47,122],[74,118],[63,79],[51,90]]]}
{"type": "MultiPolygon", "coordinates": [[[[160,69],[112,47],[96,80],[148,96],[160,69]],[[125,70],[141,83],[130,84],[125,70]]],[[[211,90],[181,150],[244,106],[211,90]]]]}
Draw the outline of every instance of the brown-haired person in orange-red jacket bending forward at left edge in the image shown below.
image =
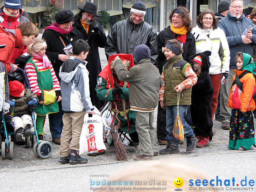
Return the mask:
{"type": "Polygon", "coordinates": [[[22,45],[29,46],[38,34],[37,27],[31,22],[21,23],[15,30],[9,30],[0,25],[0,44],[6,44],[5,48],[1,49],[0,62],[5,65],[7,73],[17,69],[17,65],[10,63],[14,48],[22,45]]]}

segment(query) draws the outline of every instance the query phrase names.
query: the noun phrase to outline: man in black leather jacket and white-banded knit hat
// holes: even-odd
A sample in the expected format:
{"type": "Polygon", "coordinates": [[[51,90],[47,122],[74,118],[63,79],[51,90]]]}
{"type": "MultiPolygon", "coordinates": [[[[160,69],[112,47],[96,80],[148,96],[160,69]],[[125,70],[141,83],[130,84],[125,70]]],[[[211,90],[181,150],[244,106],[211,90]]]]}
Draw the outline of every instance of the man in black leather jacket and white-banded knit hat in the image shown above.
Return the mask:
{"type": "Polygon", "coordinates": [[[118,53],[133,54],[134,48],[145,44],[150,49],[151,63],[155,64],[157,54],[156,32],[144,22],[146,6],[142,1],[134,2],[127,20],[113,25],[107,36],[105,53],[107,58],[118,53]]]}

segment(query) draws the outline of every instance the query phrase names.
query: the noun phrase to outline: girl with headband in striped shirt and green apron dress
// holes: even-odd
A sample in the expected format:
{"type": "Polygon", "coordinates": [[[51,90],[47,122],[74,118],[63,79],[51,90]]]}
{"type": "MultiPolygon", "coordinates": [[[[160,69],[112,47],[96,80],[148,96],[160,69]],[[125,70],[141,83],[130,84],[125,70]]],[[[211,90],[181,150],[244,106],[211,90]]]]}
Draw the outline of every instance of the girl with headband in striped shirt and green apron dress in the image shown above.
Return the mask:
{"type": "Polygon", "coordinates": [[[36,38],[34,43],[27,48],[32,55],[25,65],[26,75],[30,89],[39,99],[36,105],[36,129],[39,140],[43,139],[43,127],[46,115],[59,111],[58,102],[61,100],[60,84],[54,73],[53,66],[46,56],[47,44],[41,38],[36,38]]]}

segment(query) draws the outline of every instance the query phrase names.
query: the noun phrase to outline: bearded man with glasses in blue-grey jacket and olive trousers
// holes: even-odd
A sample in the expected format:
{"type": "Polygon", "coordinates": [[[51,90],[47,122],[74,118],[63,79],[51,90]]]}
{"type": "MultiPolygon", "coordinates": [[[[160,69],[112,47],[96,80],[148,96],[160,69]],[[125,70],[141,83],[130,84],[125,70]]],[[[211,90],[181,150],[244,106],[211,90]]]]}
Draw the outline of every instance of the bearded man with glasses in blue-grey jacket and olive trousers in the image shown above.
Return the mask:
{"type": "Polygon", "coordinates": [[[225,84],[220,86],[220,117],[222,129],[229,129],[231,108],[227,107],[230,87],[232,85],[232,77],[235,75],[233,69],[236,68],[236,54],[245,52],[253,55],[252,44],[256,44],[256,28],[249,18],[242,13],[244,1],[231,0],[229,4],[228,15],[219,20],[218,26],[225,32],[229,50],[230,64],[229,75],[225,80],[225,84]],[[247,34],[242,33],[249,27],[253,26],[247,34]]]}

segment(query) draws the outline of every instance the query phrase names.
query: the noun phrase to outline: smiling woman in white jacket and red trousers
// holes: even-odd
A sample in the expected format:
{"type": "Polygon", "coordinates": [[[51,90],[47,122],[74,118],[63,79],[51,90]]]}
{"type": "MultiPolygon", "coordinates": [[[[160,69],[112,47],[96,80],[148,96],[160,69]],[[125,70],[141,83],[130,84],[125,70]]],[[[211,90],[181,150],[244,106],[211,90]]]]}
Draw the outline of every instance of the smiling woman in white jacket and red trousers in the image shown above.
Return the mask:
{"type": "Polygon", "coordinates": [[[196,53],[202,53],[206,50],[212,52],[209,56],[211,63],[209,74],[214,89],[211,106],[212,119],[218,105],[220,81],[223,76],[228,77],[230,60],[228,41],[224,31],[217,24],[218,20],[213,11],[207,9],[197,17],[197,26],[191,31],[196,39],[196,53]]]}

